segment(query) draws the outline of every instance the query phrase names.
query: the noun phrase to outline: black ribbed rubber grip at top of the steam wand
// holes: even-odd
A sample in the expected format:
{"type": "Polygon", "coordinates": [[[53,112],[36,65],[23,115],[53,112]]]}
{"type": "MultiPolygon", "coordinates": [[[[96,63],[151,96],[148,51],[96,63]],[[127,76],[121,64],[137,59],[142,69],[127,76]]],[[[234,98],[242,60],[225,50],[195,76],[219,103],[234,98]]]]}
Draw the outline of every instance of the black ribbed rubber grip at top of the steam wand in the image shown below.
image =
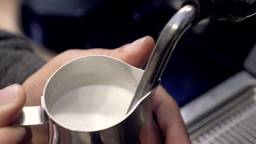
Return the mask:
{"type": "Polygon", "coordinates": [[[256,13],[256,0],[185,0],[197,10],[194,24],[203,19],[242,21],[256,13]]]}

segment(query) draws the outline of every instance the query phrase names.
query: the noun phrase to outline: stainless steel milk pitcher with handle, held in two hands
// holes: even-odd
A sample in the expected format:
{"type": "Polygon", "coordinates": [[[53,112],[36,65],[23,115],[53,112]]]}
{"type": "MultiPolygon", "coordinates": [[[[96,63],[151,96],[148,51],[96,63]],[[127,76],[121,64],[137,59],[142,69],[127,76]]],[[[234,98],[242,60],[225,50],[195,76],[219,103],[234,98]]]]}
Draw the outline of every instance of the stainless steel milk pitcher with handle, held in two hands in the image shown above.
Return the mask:
{"type": "MultiPolygon", "coordinates": [[[[49,135],[49,143],[54,144],[161,143],[160,133],[154,122],[151,107],[152,96],[158,85],[139,99],[133,109],[125,115],[130,104],[129,101],[124,116],[115,119],[113,123],[103,125],[103,127],[94,130],[74,128],[56,119],[50,111],[54,103],[63,94],[74,88],[87,85],[89,80],[93,81],[92,77],[86,77],[91,73],[101,73],[102,82],[106,82],[104,77],[109,76],[108,74],[114,75],[118,77],[118,81],[107,81],[109,85],[123,85],[135,93],[143,70],[108,56],[86,56],[75,59],[63,65],[50,77],[44,88],[42,106],[24,107],[23,116],[17,119],[14,125],[34,125],[52,121],[54,130],[49,131],[49,134],[53,133],[53,135],[49,135]],[[129,86],[126,86],[125,82],[128,82],[127,85],[129,86]]],[[[85,93],[85,95],[90,94],[85,93]]]]}

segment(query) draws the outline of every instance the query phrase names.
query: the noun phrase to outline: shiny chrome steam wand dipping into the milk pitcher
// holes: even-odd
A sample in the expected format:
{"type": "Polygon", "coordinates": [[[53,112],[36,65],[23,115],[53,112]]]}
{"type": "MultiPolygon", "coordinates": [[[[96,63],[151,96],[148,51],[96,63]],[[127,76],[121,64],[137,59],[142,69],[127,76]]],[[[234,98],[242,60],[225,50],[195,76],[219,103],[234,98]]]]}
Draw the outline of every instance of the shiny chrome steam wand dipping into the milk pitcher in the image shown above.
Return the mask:
{"type": "Polygon", "coordinates": [[[129,112],[137,101],[146,95],[157,83],[166,64],[183,33],[192,25],[196,16],[193,5],[185,5],[167,22],[156,41],[152,55],[131,101],[129,112]]]}

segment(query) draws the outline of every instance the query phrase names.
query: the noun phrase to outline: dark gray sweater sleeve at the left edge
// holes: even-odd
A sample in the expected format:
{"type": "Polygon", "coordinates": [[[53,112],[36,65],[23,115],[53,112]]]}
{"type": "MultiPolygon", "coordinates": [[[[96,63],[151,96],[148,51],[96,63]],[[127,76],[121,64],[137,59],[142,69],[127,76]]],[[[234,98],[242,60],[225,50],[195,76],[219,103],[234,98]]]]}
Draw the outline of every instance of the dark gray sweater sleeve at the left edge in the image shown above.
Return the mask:
{"type": "Polygon", "coordinates": [[[45,64],[33,53],[32,46],[26,37],[0,31],[0,89],[21,84],[45,64]]]}

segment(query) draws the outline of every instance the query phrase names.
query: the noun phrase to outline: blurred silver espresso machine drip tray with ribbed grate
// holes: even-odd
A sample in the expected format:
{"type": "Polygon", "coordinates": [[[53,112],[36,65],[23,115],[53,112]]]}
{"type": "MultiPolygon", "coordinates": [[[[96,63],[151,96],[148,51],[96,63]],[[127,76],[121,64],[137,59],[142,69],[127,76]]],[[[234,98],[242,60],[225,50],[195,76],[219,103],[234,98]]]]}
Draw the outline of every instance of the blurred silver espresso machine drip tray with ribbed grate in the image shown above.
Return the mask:
{"type": "Polygon", "coordinates": [[[255,143],[256,45],[244,69],[183,106],[192,143],[255,143]]]}

